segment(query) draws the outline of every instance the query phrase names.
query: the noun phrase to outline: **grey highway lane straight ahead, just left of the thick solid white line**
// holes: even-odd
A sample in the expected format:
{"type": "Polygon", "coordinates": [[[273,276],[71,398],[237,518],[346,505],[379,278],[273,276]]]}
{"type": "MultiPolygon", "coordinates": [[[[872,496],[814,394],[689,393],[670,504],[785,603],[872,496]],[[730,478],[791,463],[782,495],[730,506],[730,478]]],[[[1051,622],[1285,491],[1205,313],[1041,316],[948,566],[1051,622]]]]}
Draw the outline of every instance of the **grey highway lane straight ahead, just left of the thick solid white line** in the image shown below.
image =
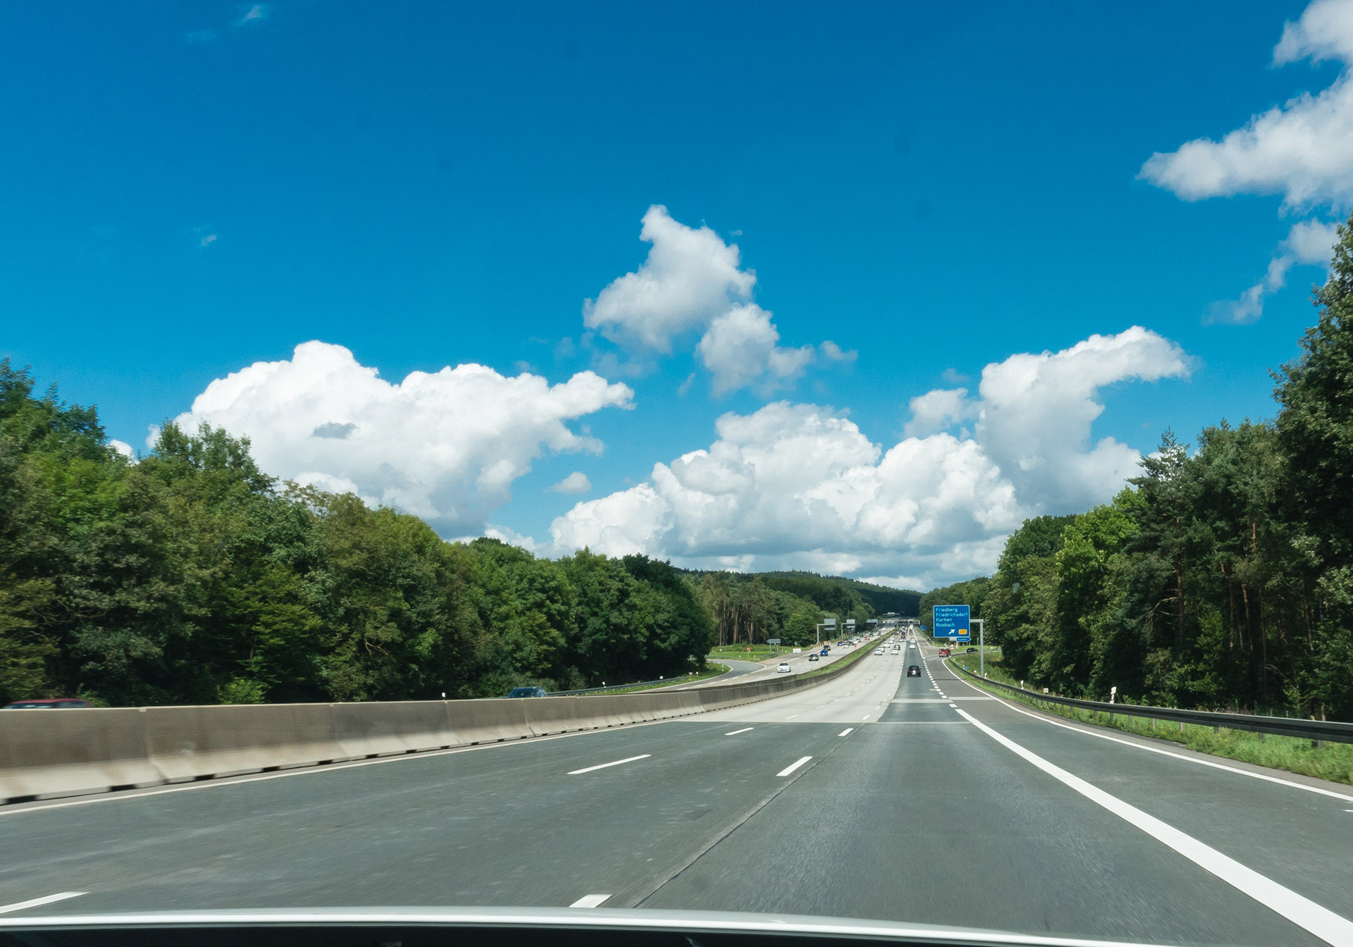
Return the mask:
{"type": "Polygon", "coordinates": [[[1153,943],[1319,943],[1058,793],[930,687],[904,678],[882,721],[644,906],[698,900],[1153,943]]]}

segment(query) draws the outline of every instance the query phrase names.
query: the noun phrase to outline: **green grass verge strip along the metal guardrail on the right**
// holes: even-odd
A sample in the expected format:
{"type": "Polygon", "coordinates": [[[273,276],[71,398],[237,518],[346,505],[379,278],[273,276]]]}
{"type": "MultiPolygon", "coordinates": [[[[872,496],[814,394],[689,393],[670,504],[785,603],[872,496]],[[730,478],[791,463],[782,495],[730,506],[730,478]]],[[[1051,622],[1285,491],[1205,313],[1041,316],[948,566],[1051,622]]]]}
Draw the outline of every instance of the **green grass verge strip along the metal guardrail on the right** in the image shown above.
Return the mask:
{"type": "MultiPolygon", "coordinates": [[[[976,672],[976,657],[977,655],[961,655],[953,660],[954,663],[962,663],[963,667],[976,672]]],[[[1019,686],[1019,682],[1012,680],[1005,668],[1000,666],[1000,660],[993,659],[992,655],[986,656],[986,676],[990,680],[1019,686]]],[[[982,683],[971,678],[965,678],[965,680],[977,686],[982,683]]],[[[1011,694],[997,687],[988,687],[988,690],[1005,699],[1019,701],[1043,713],[1053,713],[1082,724],[1111,726],[1126,733],[1135,733],[1137,736],[1178,743],[1189,749],[1212,756],[1223,756],[1242,763],[1254,763],[1275,770],[1298,772],[1303,777],[1316,777],[1319,779],[1329,779],[1330,782],[1353,785],[1353,744],[1326,743],[1316,748],[1314,741],[1292,736],[1260,735],[1250,733],[1249,731],[1233,731],[1226,726],[1214,732],[1211,726],[1199,726],[1196,724],[1184,724],[1181,726],[1180,724],[1164,720],[1151,721],[1143,717],[1128,717],[1122,713],[1115,713],[1111,718],[1109,714],[1099,710],[1042,703],[1038,702],[1036,695],[1024,697],[1022,694],[1011,694]]],[[[1127,706],[1130,705],[1124,705],[1124,708],[1127,706]]]]}

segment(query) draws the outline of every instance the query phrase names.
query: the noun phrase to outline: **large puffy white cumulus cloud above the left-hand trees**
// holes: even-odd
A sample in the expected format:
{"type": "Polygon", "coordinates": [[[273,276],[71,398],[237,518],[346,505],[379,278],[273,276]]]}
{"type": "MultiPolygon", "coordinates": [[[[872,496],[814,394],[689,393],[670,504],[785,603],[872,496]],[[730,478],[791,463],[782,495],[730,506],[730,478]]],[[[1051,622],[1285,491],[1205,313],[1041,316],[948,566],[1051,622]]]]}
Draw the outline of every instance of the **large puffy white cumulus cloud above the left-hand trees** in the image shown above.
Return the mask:
{"type": "Polygon", "coordinates": [[[453,534],[480,529],[545,451],[599,452],[567,422],[632,398],[593,372],[549,384],[475,364],[392,384],[344,346],[314,341],[216,379],[175,422],[249,437],[273,476],[395,506],[453,534]]]}

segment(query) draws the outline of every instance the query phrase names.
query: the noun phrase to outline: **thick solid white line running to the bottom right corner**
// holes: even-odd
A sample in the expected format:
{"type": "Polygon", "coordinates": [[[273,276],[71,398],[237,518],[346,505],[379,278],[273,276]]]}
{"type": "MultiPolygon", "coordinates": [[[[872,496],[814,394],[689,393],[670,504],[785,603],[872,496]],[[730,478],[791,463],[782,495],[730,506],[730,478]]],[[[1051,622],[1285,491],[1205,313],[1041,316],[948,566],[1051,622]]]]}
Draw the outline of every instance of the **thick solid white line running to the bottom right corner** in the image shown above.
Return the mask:
{"type": "Polygon", "coordinates": [[[1139,828],[1157,841],[1173,848],[1176,852],[1193,862],[1204,871],[1216,875],[1235,890],[1254,898],[1269,910],[1273,910],[1292,921],[1304,931],[1310,931],[1316,938],[1337,947],[1353,944],[1353,921],[1335,915],[1310,898],[1302,897],[1289,887],[1279,885],[1272,878],[1261,875],[1229,855],[1223,855],[1211,846],[1206,846],[1191,835],[1181,832],[1168,823],[1162,823],[1155,816],[1147,814],[1134,805],[1124,802],[1116,795],[1109,795],[1099,786],[1092,786],[1080,777],[1068,772],[1055,763],[1049,763],[1031,749],[1026,749],[1003,733],[997,733],[990,726],[980,721],[966,710],[959,710],[959,716],[986,736],[1028,760],[1039,770],[1053,777],[1061,783],[1074,789],[1091,802],[1103,806],[1123,821],[1139,828]]]}

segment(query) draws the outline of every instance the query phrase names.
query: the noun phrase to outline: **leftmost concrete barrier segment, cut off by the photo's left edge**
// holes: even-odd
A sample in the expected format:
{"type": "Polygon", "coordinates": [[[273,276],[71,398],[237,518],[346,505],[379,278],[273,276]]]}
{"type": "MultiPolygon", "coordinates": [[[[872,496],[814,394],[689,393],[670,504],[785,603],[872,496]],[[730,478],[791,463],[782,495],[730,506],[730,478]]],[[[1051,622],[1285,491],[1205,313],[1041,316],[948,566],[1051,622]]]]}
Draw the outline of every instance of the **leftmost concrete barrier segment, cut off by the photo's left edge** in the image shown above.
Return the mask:
{"type": "Polygon", "coordinates": [[[158,782],[137,708],[0,712],[0,801],[158,782]]]}

